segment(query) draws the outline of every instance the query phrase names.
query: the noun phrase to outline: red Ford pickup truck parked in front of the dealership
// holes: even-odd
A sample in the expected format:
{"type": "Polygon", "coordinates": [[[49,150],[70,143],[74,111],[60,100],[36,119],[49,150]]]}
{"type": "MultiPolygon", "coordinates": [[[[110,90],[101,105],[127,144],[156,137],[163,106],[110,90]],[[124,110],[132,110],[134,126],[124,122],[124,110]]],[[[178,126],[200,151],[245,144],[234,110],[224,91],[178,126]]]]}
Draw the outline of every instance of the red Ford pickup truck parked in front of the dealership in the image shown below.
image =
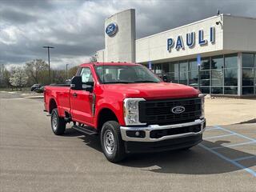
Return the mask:
{"type": "Polygon", "coordinates": [[[100,135],[110,162],[130,153],[189,149],[202,142],[204,98],[193,87],[163,82],[145,66],[82,64],[70,86],[46,86],[45,110],[54,134],[66,123],[100,135]]]}

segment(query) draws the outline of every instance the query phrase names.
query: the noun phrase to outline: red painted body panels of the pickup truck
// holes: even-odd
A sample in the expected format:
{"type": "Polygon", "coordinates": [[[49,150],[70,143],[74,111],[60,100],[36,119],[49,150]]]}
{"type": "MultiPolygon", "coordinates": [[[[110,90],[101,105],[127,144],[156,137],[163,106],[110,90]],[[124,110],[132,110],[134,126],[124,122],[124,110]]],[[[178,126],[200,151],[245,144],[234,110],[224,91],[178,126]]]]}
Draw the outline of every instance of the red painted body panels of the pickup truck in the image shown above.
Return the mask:
{"type": "Polygon", "coordinates": [[[54,100],[58,107],[58,114],[65,117],[69,113],[72,120],[97,128],[98,114],[103,109],[112,110],[121,126],[125,126],[123,117],[123,100],[125,98],[145,98],[146,100],[168,98],[198,97],[199,91],[190,86],[176,83],[130,83],[130,84],[101,84],[94,70],[94,65],[139,65],[131,63],[90,63],[80,67],[89,66],[94,78],[94,91],[71,90],[69,86],[46,86],[45,108],[50,110],[50,102],[54,100]],[[74,98],[73,94],[77,97],[74,98]],[[92,94],[96,96],[95,113],[91,110],[92,94]]]}

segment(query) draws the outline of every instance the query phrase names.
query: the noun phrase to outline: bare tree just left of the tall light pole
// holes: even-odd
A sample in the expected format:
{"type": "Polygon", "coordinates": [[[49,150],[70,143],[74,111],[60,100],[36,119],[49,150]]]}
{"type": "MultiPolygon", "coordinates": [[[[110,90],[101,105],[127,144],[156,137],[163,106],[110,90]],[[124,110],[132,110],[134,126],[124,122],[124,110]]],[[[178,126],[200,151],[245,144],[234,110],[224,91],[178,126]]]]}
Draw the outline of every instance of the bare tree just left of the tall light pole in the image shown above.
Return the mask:
{"type": "Polygon", "coordinates": [[[31,62],[26,62],[26,74],[32,78],[33,83],[39,82],[40,73],[46,71],[48,64],[42,59],[34,59],[31,62]]]}

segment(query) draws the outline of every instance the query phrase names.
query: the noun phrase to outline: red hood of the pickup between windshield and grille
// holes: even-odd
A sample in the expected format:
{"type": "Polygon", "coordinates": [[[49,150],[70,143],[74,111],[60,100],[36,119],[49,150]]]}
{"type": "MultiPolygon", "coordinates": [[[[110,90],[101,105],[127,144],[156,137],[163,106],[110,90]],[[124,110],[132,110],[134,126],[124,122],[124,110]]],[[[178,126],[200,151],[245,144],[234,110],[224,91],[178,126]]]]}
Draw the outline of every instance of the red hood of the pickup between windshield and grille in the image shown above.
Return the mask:
{"type": "Polygon", "coordinates": [[[104,85],[106,90],[122,94],[124,98],[192,98],[198,97],[199,91],[191,86],[176,83],[129,83],[104,85]]]}

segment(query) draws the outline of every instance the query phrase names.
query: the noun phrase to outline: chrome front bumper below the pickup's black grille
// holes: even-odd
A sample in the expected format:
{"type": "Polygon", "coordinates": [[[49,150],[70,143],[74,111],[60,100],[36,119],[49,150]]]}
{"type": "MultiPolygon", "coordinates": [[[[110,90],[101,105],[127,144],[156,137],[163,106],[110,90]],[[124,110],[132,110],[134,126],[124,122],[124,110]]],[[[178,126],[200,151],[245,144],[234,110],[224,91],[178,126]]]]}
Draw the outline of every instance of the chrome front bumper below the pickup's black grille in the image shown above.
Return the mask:
{"type": "Polygon", "coordinates": [[[160,142],[166,139],[171,138],[182,138],[182,137],[188,137],[192,135],[198,135],[202,134],[202,132],[205,130],[206,125],[206,119],[197,119],[194,122],[186,122],[186,123],[180,123],[180,124],[174,124],[174,125],[167,125],[167,126],[158,126],[158,125],[149,125],[149,126],[120,126],[122,140],[126,142],[160,142]],[[194,132],[188,132],[185,134],[172,134],[172,135],[166,135],[162,136],[162,138],[150,138],[150,131],[151,130],[167,130],[167,129],[174,129],[178,127],[185,127],[185,126],[196,126],[201,125],[201,130],[194,133],[194,132]],[[145,137],[144,138],[137,138],[137,137],[129,137],[126,134],[127,130],[131,131],[139,131],[143,130],[145,131],[145,137]]]}

